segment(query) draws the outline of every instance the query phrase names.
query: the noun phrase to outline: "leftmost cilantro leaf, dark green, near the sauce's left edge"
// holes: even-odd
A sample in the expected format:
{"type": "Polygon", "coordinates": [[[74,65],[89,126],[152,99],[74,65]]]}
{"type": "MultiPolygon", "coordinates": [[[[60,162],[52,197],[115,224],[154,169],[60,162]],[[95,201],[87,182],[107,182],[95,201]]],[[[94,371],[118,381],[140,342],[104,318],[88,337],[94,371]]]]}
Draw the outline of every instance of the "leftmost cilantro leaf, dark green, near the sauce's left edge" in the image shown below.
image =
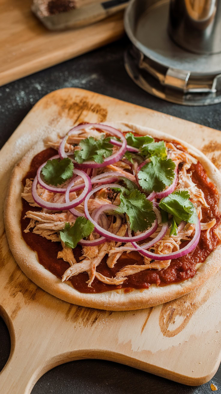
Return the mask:
{"type": "Polygon", "coordinates": [[[41,170],[45,182],[50,185],[61,185],[65,180],[73,175],[74,165],[69,158],[63,160],[52,159],[48,160],[41,170]]]}

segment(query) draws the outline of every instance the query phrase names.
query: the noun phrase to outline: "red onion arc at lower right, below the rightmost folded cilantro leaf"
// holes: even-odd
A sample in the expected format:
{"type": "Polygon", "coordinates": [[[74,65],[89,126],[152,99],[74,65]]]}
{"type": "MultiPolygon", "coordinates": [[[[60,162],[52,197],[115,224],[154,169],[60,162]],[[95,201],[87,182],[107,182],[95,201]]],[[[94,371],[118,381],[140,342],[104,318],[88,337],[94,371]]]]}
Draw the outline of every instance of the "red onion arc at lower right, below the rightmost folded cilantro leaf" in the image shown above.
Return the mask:
{"type": "MultiPolygon", "coordinates": [[[[128,234],[129,234],[129,236],[131,236],[130,229],[128,229],[128,234]]],[[[149,252],[145,249],[141,249],[140,246],[137,245],[136,242],[131,242],[131,243],[135,247],[135,249],[139,249],[139,253],[141,253],[143,256],[149,257],[154,260],[160,260],[160,261],[161,260],[172,260],[174,258],[179,258],[179,257],[185,256],[188,253],[190,253],[191,251],[193,251],[193,249],[195,249],[195,247],[197,246],[197,243],[199,242],[200,234],[201,234],[200,221],[197,217],[195,234],[193,236],[193,239],[186,246],[184,246],[182,249],[180,249],[177,252],[172,252],[172,253],[168,253],[168,254],[164,254],[164,255],[158,255],[157,253],[152,253],[152,252],[149,252]]],[[[145,245],[145,247],[146,246],[147,245],[145,245]]]]}

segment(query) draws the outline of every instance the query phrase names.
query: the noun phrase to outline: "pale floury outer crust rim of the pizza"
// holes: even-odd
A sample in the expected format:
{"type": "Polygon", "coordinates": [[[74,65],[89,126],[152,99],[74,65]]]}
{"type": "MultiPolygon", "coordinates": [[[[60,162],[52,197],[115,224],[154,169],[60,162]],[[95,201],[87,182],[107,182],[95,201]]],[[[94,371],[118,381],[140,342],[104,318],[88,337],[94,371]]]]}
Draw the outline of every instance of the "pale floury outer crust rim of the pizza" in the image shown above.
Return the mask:
{"type": "MultiPolygon", "coordinates": [[[[119,128],[121,131],[132,130],[140,135],[149,134],[152,137],[165,139],[165,141],[177,141],[201,162],[208,177],[216,185],[219,193],[221,193],[221,173],[202,152],[188,143],[174,138],[169,134],[130,123],[117,122],[105,124],[119,128]]],[[[218,245],[210,253],[204,263],[198,264],[193,278],[180,283],[168,284],[161,287],[152,284],[149,289],[134,289],[130,292],[124,292],[124,289],[117,289],[104,293],[88,294],[75,290],[71,283],[61,282],[61,279],[58,279],[54,274],[39,264],[37,253],[30,249],[24,241],[20,227],[22,211],[21,192],[23,191],[22,178],[28,172],[33,156],[43,149],[45,149],[44,143],[43,141],[39,141],[22,158],[19,164],[15,166],[9,182],[4,206],[6,235],[11,252],[26,276],[43,290],[64,301],[84,307],[118,311],[136,310],[156,306],[181,297],[204,284],[219,270],[221,267],[221,245],[218,245]]],[[[219,199],[219,211],[221,211],[221,199],[219,199]]]]}

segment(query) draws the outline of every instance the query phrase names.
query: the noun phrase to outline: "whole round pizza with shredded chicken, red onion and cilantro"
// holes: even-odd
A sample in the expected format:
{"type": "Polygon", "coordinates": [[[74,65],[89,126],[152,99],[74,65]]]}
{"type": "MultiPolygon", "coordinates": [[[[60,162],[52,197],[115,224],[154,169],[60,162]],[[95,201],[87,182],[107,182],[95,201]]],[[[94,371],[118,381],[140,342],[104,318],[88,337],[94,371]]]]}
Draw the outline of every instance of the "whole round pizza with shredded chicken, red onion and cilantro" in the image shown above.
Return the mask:
{"type": "Polygon", "coordinates": [[[220,192],[218,169],[184,141],[128,123],[82,123],[46,136],[15,166],[7,239],[22,271],[58,298],[152,307],[220,268],[220,192]]]}

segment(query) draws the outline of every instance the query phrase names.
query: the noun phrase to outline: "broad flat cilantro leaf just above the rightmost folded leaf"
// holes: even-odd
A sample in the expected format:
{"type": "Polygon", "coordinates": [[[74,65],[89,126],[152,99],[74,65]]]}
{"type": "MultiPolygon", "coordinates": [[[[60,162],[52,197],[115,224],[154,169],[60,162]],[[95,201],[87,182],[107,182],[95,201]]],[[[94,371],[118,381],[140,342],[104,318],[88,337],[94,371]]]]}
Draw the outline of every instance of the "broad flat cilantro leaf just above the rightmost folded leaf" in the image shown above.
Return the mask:
{"type": "Polygon", "coordinates": [[[175,163],[171,159],[162,160],[159,157],[150,157],[150,162],[145,164],[138,172],[139,185],[143,190],[162,191],[170,186],[174,180],[175,163]]]}

